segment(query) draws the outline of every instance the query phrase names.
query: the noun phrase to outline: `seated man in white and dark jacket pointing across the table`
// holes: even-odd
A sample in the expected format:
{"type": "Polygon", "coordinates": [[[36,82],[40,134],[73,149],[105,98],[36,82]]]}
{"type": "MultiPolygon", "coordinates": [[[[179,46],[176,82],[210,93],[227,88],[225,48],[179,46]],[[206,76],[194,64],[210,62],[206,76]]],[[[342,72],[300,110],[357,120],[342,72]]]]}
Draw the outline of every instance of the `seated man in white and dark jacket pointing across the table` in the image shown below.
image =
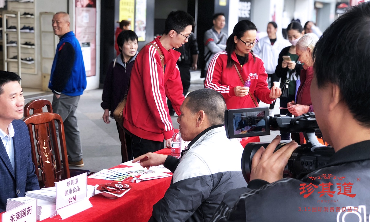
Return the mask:
{"type": "Polygon", "coordinates": [[[226,138],[222,95],[206,88],[193,91],[180,110],[182,139],[191,141],[181,159],[147,153],[132,161],[148,168],[164,164],[174,173],[149,221],[209,221],[226,192],[247,186],[240,167],[243,147],[226,138]]]}

